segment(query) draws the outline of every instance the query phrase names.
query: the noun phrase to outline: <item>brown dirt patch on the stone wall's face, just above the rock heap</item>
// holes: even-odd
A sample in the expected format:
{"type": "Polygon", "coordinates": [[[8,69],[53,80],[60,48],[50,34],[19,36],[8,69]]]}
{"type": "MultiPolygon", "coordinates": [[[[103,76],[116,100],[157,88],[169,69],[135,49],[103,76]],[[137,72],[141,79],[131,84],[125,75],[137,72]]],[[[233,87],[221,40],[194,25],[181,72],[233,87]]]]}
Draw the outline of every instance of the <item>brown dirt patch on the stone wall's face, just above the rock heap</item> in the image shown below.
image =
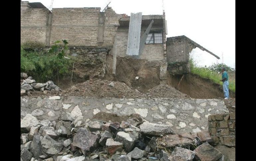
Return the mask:
{"type": "Polygon", "coordinates": [[[126,121],[127,119],[131,118],[140,118],[141,116],[139,114],[131,114],[130,116],[117,116],[116,114],[109,114],[105,112],[99,112],[96,115],[92,117],[92,119],[96,120],[102,120],[105,122],[108,122],[111,120],[112,122],[119,122],[121,123],[122,121],[126,121]]]}

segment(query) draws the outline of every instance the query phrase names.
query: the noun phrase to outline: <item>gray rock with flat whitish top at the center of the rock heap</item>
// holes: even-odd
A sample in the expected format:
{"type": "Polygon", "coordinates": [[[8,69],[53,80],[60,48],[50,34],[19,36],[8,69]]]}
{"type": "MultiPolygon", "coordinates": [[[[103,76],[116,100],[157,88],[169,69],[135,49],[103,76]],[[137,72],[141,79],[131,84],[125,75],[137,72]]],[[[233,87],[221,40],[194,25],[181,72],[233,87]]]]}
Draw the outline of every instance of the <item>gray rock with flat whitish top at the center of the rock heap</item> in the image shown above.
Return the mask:
{"type": "Polygon", "coordinates": [[[133,135],[123,131],[117,132],[115,138],[116,141],[123,143],[126,152],[130,152],[132,150],[136,139],[137,138],[135,138],[133,135]]]}

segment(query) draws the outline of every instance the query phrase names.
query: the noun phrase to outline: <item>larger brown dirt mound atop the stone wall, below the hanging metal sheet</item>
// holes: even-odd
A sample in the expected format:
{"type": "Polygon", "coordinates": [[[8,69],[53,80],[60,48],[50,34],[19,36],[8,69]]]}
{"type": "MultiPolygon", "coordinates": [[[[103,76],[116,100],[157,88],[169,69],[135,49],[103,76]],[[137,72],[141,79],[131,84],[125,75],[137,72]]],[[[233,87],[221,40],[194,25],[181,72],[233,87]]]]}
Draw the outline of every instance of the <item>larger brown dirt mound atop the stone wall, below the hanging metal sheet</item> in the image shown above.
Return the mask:
{"type": "Polygon", "coordinates": [[[96,79],[76,84],[79,91],[72,91],[71,88],[64,91],[64,95],[84,96],[84,97],[114,97],[114,98],[143,98],[139,91],[131,89],[125,83],[113,82],[113,87],[109,86],[111,81],[96,79]]]}

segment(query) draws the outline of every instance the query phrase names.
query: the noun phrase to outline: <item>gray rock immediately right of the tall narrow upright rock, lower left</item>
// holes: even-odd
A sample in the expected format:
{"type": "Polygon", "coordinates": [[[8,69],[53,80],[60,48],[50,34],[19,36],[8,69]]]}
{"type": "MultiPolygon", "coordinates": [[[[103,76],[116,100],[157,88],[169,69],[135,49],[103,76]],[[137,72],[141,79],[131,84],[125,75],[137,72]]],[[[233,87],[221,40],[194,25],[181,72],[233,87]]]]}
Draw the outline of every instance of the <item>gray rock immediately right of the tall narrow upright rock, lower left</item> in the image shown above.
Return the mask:
{"type": "Polygon", "coordinates": [[[58,154],[63,149],[63,144],[55,141],[50,136],[46,135],[41,140],[42,151],[45,152],[49,156],[54,156],[58,154]]]}

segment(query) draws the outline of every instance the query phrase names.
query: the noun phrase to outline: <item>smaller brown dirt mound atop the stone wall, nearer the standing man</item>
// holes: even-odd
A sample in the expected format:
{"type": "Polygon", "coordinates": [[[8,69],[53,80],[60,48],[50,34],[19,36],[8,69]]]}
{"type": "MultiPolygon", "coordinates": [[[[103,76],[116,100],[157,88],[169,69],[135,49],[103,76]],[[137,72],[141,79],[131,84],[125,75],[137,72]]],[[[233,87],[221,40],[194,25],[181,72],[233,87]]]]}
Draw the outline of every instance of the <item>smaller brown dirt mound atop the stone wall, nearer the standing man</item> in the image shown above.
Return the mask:
{"type": "Polygon", "coordinates": [[[146,93],[148,98],[190,98],[188,95],[168,85],[158,85],[146,93]]]}

